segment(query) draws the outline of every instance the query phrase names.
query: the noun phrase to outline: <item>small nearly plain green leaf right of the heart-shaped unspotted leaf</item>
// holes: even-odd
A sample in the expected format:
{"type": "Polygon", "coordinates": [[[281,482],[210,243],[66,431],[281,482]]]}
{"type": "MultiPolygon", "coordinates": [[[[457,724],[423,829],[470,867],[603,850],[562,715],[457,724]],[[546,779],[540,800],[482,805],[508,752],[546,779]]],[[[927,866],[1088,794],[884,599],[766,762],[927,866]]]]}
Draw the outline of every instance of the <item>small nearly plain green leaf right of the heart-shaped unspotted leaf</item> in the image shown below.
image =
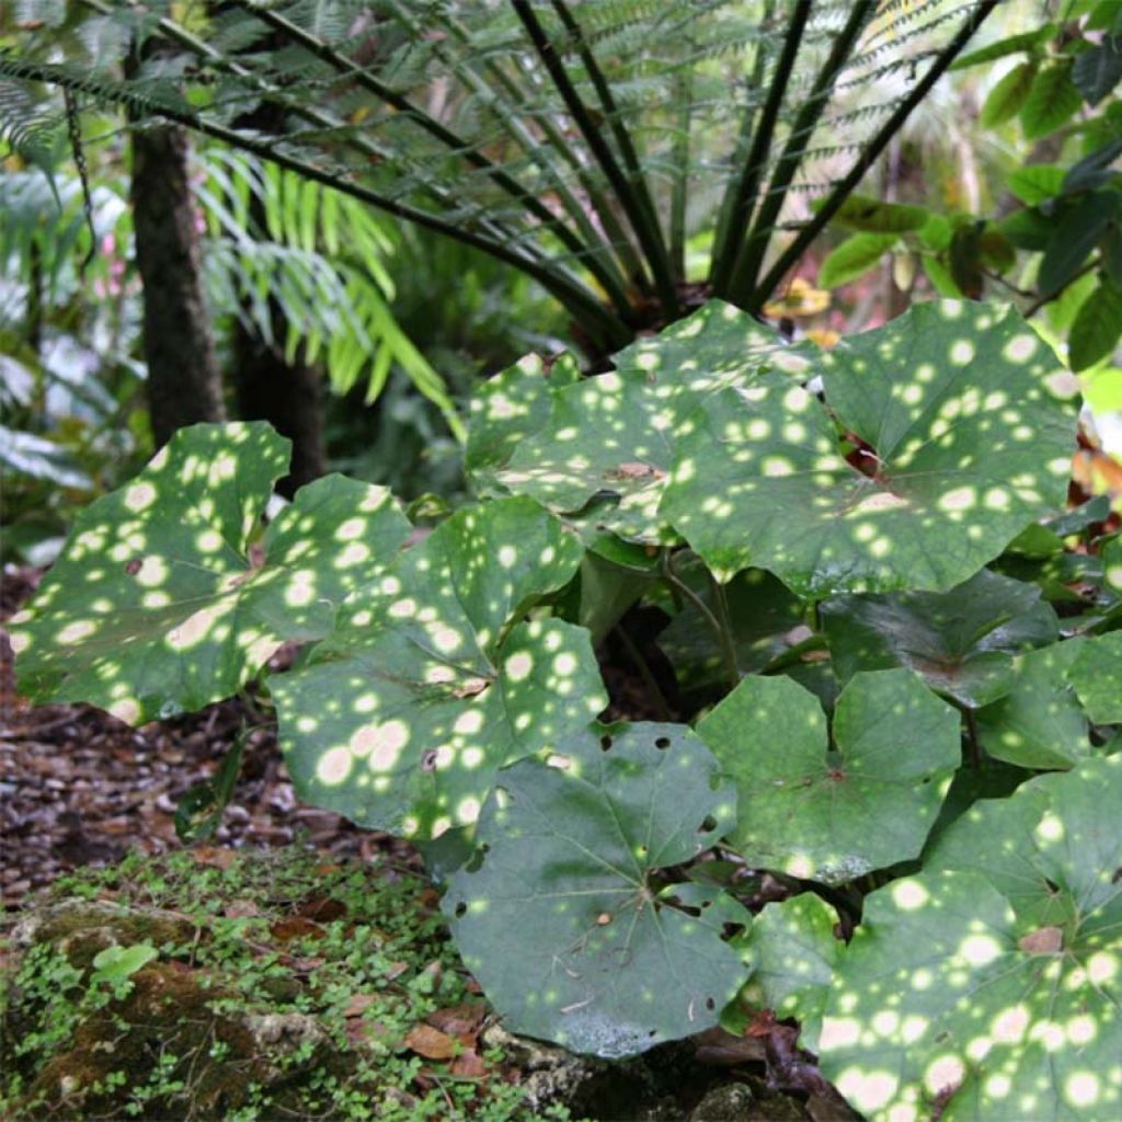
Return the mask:
{"type": "Polygon", "coordinates": [[[1091,751],[1087,721],[1067,680],[1079,641],[1019,655],[1006,695],[977,716],[978,741],[1019,767],[1070,767],[1091,751]]]}

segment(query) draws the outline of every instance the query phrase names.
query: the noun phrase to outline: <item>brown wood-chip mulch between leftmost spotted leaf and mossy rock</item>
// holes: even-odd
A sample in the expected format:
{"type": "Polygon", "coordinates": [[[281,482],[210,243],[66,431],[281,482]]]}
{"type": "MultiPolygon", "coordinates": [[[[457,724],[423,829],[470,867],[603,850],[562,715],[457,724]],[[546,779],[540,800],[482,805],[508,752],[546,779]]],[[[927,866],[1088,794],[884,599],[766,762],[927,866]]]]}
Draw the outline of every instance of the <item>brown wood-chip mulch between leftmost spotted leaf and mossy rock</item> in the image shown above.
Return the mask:
{"type": "MultiPolygon", "coordinates": [[[[0,620],[18,610],[39,576],[12,567],[0,576],[0,620]]],[[[231,700],[134,729],[90,706],[28,706],[16,696],[11,647],[0,627],[4,910],[24,907],[37,889],[80,866],[112,864],[129,849],[182,847],[176,803],[214,775],[247,717],[256,719],[231,700]]],[[[358,859],[392,850],[416,859],[406,843],[300,803],[270,725],[249,734],[233,798],[211,842],[233,848],[297,843],[358,859]]]]}

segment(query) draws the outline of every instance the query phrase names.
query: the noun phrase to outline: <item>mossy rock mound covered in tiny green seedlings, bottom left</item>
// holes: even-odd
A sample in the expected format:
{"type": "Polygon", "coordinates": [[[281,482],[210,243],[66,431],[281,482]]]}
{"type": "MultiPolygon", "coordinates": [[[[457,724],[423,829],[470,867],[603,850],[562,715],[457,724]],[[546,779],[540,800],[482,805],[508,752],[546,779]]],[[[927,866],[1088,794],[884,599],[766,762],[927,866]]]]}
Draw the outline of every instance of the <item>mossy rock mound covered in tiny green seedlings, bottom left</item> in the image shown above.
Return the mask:
{"type": "Polygon", "coordinates": [[[297,847],[132,855],[67,877],[9,930],[0,1114],[565,1118],[530,1110],[500,1055],[466,1078],[404,1043],[471,997],[435,903],[416,873],[297,847]],[[139,942],[159,957],[98,980],[99,950],[139,942]]]}

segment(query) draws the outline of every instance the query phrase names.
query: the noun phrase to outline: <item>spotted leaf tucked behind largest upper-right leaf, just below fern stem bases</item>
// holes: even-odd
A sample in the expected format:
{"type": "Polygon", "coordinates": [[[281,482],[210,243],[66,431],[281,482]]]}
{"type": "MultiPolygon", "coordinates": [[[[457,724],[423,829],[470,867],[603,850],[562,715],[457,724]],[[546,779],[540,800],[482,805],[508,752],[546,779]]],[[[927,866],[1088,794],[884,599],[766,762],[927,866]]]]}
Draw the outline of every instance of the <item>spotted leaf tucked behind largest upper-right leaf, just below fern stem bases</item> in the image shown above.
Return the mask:
{"type": "Polygon", "coordinates": [[[787,360],[801,361],[751,315],[715,301],[622,351],[614,371],[558,390],[548,423],[496,478],[562,513],[610,497],[616,505],[596,512],[598,530],[669,541],[657,507],[682,419],[716,387],[787,360]]]}

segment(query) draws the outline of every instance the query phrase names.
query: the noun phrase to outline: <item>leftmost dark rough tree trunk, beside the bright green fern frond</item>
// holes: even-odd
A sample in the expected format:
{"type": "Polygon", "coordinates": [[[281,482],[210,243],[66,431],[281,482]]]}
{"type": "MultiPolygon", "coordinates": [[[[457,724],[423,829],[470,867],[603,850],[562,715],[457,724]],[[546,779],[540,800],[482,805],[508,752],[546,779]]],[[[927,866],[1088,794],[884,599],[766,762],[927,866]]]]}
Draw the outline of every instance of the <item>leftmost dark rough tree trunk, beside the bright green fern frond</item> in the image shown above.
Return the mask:
{"type": "Polygon", "coordinates": [[[144,352],[156,445],[222,421],[222,383],[203,302],[188,144],[178,126],[132,134],[132,224],[144,282],[144,352]]]}

